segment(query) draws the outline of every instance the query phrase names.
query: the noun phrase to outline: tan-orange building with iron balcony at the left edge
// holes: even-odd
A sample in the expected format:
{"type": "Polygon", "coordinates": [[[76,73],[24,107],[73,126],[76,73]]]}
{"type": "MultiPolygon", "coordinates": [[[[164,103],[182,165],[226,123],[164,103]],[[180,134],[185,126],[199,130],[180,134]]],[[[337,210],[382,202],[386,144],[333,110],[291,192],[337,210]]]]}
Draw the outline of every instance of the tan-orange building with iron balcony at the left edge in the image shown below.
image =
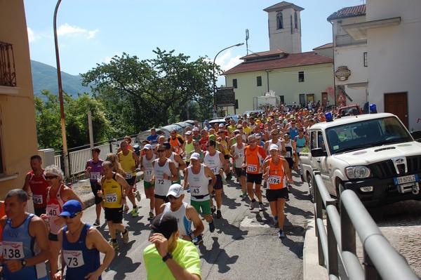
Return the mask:
{"type": "Polygon", "coordinates": [[[21,188],[38,154],[23,0],[0,0],[0,199],[21,188]]]}

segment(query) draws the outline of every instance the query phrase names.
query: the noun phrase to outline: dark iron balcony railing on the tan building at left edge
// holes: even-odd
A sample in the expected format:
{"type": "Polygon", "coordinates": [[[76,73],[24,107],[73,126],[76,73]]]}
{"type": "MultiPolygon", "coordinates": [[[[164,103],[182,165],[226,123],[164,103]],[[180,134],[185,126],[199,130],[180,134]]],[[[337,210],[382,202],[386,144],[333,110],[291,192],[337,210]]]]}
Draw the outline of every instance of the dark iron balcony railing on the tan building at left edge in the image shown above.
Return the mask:
{"type": "Polygon", "coordinates": [[[15,56],[12,44],[0,41],[0,86],[16,86],[15,56]]]}

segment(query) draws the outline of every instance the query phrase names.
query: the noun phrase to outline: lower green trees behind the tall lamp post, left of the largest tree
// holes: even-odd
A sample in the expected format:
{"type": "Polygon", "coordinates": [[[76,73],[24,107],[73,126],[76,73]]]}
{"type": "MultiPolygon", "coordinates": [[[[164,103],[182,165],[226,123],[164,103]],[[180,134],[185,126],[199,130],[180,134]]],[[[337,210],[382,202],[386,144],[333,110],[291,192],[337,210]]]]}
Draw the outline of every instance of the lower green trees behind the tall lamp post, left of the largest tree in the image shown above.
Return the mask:
{"type": "MultiPolygon", "coordinates": [[[[39,148],[62,149],[60,102],[58,95],[42,91],[46,101],[35,97],[36,131],[39,148]]],[[[111,138],[113,128],[105,117],[102,104],[87,94],[77,99],[63,93],[67,147],[78,147],[89,143],[88,114],[92,115],[93,140],[100,142],[111,138]]]]}

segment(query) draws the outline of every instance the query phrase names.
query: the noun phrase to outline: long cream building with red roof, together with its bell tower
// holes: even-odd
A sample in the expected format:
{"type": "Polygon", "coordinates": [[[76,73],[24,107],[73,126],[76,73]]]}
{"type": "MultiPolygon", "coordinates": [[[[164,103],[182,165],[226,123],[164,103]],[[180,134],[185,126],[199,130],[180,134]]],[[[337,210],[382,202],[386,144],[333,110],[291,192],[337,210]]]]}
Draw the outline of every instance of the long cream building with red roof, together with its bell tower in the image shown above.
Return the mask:
{"type": "MultiPolygon", "coordinates": [[[[286,1],[265,8],[270,50],[246,55],[224,73],[225,85],[234,88],[237,114],[260,109],[259,97],[271,94],[287,105],[319,100],[335,104],[333,45],[301,52],[302,10],[286,1]]],[[[234,114],[234,107],[227,107],[226,114],[234,114]]]]}

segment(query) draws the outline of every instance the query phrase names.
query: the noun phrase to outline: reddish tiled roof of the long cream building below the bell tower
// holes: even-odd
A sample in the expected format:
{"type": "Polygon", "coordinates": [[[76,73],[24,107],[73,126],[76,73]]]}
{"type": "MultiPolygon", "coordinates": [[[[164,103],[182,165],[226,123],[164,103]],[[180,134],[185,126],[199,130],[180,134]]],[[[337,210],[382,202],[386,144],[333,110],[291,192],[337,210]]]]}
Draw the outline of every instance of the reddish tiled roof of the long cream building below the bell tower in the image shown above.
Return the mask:
{"type": "Polygon", "coordinates": [[[260,60],[254,62],[242,62],[241,64],[236,65],[235,67],[224,72],[223,75],[288,67],[299,67],[305,65],[317,65],[322,63],[333,63],[333,58],[329,58],[314,51],[307,53],[290,53],[285,55],[283,58],[260,60]]]}

